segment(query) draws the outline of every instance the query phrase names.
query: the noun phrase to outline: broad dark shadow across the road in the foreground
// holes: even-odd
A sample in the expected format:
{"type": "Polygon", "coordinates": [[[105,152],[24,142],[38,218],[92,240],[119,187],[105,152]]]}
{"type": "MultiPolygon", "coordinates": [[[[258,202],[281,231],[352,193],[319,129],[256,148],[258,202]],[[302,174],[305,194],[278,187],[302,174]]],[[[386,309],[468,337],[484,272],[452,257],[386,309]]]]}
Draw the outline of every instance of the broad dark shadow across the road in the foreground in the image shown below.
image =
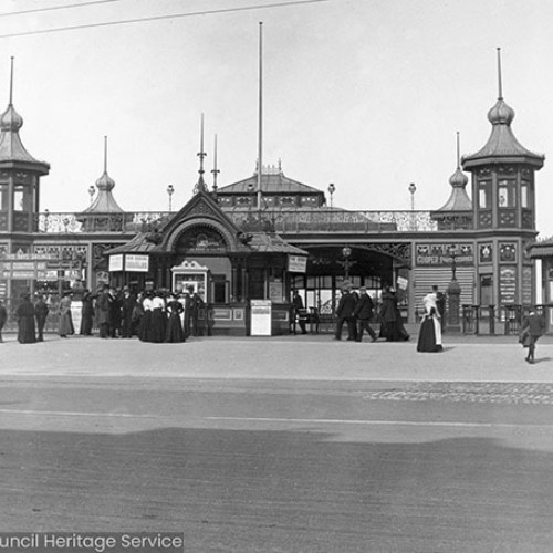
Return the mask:
{"type": "Polygon", "coordinates": [[[186,551],[551,551],[553,455],[494,439],[0,431],[0,530],[178,531],[186,551]]]}

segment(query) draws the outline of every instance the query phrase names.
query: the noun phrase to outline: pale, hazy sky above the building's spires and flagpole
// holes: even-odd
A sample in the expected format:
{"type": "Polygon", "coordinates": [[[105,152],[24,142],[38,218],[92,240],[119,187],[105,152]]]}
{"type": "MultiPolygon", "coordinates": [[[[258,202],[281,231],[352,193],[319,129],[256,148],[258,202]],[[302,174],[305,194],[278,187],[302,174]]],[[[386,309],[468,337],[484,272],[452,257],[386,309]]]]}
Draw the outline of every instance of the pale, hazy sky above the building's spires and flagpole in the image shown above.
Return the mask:
{"type": "Polygon", "coordinates": [[[288,1],[0,0],[0,111],[14,56],[20,136],[51,165],[41,210],[90,205],[104,136],[123,209],[167,210],[169,184],[179,209],[198,177],[201,114],[208,185],[216,134],[218,185],[253,175],[262,22],[263,165],[280,160],[322,190],[333,182],[345,209],[408,210],[410,182],[415,209],[447,201],[456,133],[461,155],[490,135],[500,46],[514,135],[545,154],[536,227],[553,236],[553,2],[288,1]],[[140,18],[159,19],[106,24],[140,18]],[[60,28],[73,29],[43,32],[60,28]]]}

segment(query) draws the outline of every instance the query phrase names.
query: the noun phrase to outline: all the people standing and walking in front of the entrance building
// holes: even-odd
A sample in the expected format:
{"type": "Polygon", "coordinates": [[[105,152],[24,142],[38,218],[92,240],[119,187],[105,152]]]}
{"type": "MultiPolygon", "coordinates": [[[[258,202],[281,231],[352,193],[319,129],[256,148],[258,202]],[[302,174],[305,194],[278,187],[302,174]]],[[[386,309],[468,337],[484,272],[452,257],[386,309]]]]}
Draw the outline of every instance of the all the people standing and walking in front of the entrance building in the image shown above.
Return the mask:
{"type": "MultiPolygon", "coordinates": [[[[336,307],[335,340],[342,340],[343,327],[347,327],[347,340],[362,342],[366,332],[372,342],[378,337],[387,342],[404,342],[410,338],[405,330],[398,307],[398,299],[390,285],[382,291],[379,307],[365,286],[354,290],[351,282],[342,284],[342,294],[336,307]],[[371,326],[377,311],[378,334],[371,326]]],[[[422,299],[424,313],[420,323],[417,351],[434,353],[444,351],[441,343],[442,296],[437,286],[422,299]]],[[[61,337],[75,334],[72,316],[72,292],[66,292],[59,303],[58,332],[61,337]]],[[[174,293],[166,290],[132,293],[128,286],[116,290],[107,284],[98,293],[87,290],[82,293],[80,334],[91,336],[93,328],[98,328],[102,338],[131,338],[137,336],[142,342],[178,343],[189,336],[200,334],[199,313],[205,307],[201,296],[194,286],[174,293]]],[[[294,292],[292,300],[296,321],[303,334],[306,334],[307,310],[303,300],[294,292]]],[[[18,322],[18,342],[32,344],[44,341],[44,327],[50,305],[41,293],[34,301],[30,293],[21,294],[14,316],[18,322]]],[[[2,328],[8,320],[8,312],[0,301],[0,343],[2,328]]],[[[544,333],[543,316],[532,310],[521,325],[520,342],[528,347],[526,362],[534,363],[535,343],[544,333]]]]}

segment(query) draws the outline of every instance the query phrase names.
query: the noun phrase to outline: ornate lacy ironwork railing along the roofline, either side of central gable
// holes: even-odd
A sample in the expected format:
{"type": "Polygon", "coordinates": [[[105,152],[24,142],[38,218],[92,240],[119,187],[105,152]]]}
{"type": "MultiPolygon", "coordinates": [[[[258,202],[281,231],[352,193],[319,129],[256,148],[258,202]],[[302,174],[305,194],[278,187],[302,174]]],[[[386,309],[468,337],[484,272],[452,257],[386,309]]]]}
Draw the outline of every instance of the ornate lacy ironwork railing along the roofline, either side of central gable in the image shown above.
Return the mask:
{"type": "MultiPolygon", "coordinates": [[[[343,210],[246,210],[223,209],[239,227],[258,220],[276,232],[431,232],[438,230],[430,211],[343,211],[343,210]]],[[[87,216],[71,212],[42,212],[35,216],[36,232],[149,232],[160,229],[175,213],[135,211],[87,216]]],[[[263,225],[260,226],[261,228],[263,225]]]]}

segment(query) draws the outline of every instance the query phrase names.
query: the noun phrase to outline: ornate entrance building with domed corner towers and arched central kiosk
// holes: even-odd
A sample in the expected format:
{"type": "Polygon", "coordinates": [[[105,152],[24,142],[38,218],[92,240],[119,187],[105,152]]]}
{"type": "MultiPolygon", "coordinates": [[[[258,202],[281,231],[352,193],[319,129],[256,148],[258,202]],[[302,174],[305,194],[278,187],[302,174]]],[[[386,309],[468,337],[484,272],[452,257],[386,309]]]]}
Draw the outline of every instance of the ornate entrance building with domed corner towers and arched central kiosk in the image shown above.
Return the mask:
{"type": "Polygon", "coordinates": [[[23,291],[54,298],[107,282],[136,290],[192,285],[209,305],[213,333],[248,334],[252,301],[271,302],[273,331],[281,333],[290,330],[295,290],[332,321],[344,280],[376,296],[389,283],[414,322],[431,285],[446,292],[455,281],[460,305],[491,305],[501,320],[536,295],[530,249],[544,156],[517,140],[513,117],[500,87],[489,139],[476,154],[458,152],[449,199],[435,211],[328,206],[323,190],[286,177],[280,163],[209,190],[200,156],[195,190],[176,212],[124,211],[105,161],[90,207],[51,213],[40,210],[40,179],[50,167],[23,147],[23,121],[10,97],[0,118],[0,298],[13,303],[23,291]],[[471,174],[471,197],[463,171],[471,174]]]}

